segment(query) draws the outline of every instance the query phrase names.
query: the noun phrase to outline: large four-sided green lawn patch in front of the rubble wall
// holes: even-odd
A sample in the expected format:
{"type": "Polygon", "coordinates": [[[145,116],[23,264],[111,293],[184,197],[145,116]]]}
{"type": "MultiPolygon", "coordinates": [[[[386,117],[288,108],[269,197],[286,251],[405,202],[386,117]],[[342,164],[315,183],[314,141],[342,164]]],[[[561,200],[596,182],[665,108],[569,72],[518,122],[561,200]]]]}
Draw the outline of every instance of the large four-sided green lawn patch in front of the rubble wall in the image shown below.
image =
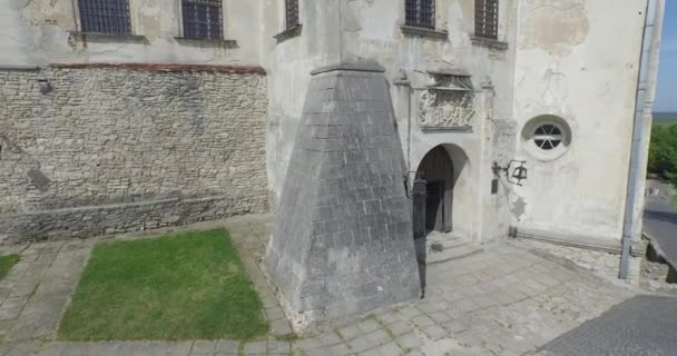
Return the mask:
{"type": "Polygon", "coordinates": [[[97,245],[59,338],[247,339],[267,330],[228,233],[217,229],[97,245]]]}

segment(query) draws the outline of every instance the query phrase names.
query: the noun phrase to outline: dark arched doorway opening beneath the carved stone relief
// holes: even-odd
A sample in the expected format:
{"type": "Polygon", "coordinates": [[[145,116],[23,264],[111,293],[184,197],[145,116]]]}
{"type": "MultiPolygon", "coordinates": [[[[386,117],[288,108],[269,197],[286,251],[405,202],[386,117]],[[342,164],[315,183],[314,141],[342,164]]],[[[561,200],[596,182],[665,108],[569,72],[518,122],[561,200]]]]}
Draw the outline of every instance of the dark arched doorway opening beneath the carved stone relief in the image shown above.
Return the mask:
{"type": "Polygon", "coordinates": [[[418,175],[425,179],[425,228],[428,231],[449,233],[452,230],[452,207],[454,171],[453,162],[444,147],[430,150],[418,175]]]}

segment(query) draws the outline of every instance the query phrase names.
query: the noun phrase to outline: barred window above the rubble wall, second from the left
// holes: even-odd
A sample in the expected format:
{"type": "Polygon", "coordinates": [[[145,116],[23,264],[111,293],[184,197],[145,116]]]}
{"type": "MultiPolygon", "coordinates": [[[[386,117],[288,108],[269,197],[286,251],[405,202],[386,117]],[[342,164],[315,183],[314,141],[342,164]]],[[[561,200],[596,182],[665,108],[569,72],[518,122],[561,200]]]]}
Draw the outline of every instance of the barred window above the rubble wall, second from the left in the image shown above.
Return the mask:
{"type": "Polygon", "coordinates": [[[223,38],[220,0],[183,0],[184,37],[223,38]]]}

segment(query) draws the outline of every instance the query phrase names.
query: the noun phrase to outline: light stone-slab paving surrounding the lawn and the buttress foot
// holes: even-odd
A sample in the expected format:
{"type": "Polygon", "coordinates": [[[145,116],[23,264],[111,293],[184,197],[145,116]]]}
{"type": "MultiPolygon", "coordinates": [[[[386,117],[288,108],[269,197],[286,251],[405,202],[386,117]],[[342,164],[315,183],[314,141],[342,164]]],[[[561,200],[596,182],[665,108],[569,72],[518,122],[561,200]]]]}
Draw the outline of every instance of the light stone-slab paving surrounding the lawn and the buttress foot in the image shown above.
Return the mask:
{"type": "Polygon", "coordinates": [[[0,283],[0,309],[7,310],[0,312],[0,355],[529,355],[639,293],[502,245],[430,266],[423,300],[293,337],[261,267],[271,220],[249,216],[185,228],[229,228],[272,324],[267,338],[56,342],[59,316],[95,240],[48,243],[13,247],[23,258],[0,283]]]}

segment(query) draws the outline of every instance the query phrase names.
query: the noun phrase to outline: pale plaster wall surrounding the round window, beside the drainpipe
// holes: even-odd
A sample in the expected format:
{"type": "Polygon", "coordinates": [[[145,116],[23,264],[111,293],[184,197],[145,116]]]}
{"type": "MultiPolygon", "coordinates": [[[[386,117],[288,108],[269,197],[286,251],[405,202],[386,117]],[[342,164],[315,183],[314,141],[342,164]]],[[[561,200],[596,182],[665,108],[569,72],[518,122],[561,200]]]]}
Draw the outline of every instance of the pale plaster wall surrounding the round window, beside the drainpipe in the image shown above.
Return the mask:
{"type": "Polygon", "coordinates": [[[571,144],[534,157],[516,189],[519,227],[589,239],[621,236],[646,1],[524,0],[520,4],[514,118],[561,117],[571,144]],[[622,42],[619,40],[622,39],[622,42]]]}

